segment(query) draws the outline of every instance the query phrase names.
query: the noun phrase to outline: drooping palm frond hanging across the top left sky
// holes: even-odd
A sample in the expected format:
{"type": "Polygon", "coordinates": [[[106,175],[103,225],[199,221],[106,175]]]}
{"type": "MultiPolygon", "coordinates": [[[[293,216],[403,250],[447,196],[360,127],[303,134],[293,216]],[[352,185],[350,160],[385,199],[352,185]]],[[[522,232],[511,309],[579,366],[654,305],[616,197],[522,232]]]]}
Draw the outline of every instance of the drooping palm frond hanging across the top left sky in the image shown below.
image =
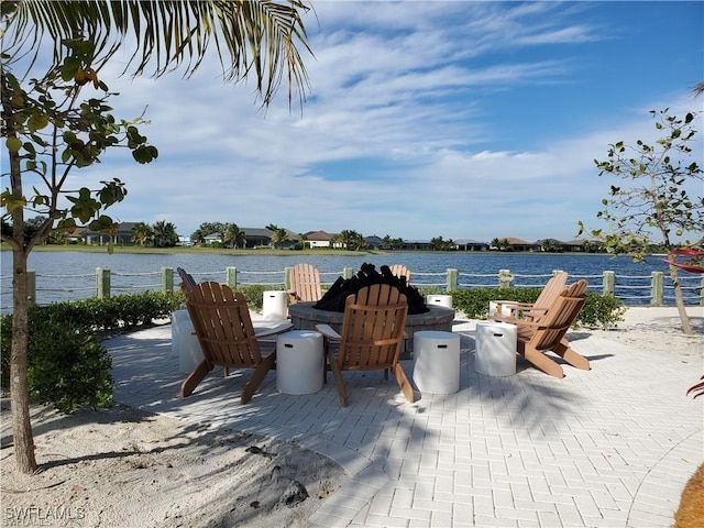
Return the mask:
{"type": "Polygon", "coordinates": [[[224,79],[237,82],[254,74],[264,106],[284,75],[289,103],[294,90],[302,103],[309,88],[300,55],[302,51],[312,55],[302,21],[311,9],[308,0],[6,0],[2,4],[2,52],[11,57],[37,54],[50,38],[54,63],[59,64],[69,53],[65,40],[88,38],[96,50],[94,69],[129,46],[134,53],[123,74],[160,77],[183,69],[190,77],[215,46],[224,79]]]}

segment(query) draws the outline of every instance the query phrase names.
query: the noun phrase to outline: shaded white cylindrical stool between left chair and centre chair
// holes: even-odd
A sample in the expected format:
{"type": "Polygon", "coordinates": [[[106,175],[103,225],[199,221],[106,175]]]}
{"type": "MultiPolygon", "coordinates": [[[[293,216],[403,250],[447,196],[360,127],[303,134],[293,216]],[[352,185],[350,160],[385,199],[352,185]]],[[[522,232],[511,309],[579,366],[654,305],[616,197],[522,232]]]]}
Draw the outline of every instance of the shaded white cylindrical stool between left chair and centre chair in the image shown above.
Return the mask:
{"type": "Polygon", "coordinates": [[[276,340],[276,388],[284,394],[311,394],[322,388],[322,334],[292,330],[276,340]]]}

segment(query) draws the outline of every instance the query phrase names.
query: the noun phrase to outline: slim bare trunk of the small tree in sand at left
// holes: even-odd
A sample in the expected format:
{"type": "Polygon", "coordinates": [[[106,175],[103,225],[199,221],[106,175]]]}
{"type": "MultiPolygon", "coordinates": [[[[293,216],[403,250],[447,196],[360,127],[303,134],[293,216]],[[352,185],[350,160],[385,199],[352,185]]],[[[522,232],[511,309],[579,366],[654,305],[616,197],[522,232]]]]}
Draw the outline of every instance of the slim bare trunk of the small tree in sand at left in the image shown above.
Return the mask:
{"type": "MultiPolygon", "coordinates": [[[[19,237],[22,237],[20,233],[19,237]]],[[[18,469],[36,471],[34,438],[30,422],[30,397],[26,381],[29,345],[29,301],[26,292],[26,257],[24,248],[12,250],[12,351],[10,355],[10,406],[12,441],[18,469]]]]}

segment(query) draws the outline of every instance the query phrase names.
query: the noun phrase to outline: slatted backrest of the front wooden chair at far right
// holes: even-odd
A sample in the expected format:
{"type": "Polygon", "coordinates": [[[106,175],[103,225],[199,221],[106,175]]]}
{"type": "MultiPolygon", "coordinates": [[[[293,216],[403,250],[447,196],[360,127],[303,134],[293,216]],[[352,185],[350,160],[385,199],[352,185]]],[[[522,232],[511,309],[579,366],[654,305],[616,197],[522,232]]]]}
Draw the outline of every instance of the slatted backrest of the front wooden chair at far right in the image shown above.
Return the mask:
{"type": "Polygon", "coordinates": [[[517,323],[518,337],[530,341],[535,350],[552,350],[576,320],[586,302],[586,280],[578,280],[563,289],[537,327],[517,323]]]}

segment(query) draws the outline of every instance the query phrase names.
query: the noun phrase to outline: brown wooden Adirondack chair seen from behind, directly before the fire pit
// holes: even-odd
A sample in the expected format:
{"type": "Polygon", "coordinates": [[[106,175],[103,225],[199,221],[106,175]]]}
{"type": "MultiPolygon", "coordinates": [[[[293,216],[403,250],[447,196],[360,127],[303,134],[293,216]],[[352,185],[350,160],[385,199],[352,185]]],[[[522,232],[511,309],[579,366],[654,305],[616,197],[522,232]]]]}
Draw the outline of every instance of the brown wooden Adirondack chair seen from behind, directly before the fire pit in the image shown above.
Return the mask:
{"type": "Polygon", "coordinates": [[[324,338],[326,361],[332,371],[343,407],[348,392],[342,371],[391,370],[406,399],[414,402],[413,386],[398,363],[408,315],[406,296],[387,284],[373,284],[350,295],[344,307],[342,336],[328,324],[318,324],[324,338]]]}

